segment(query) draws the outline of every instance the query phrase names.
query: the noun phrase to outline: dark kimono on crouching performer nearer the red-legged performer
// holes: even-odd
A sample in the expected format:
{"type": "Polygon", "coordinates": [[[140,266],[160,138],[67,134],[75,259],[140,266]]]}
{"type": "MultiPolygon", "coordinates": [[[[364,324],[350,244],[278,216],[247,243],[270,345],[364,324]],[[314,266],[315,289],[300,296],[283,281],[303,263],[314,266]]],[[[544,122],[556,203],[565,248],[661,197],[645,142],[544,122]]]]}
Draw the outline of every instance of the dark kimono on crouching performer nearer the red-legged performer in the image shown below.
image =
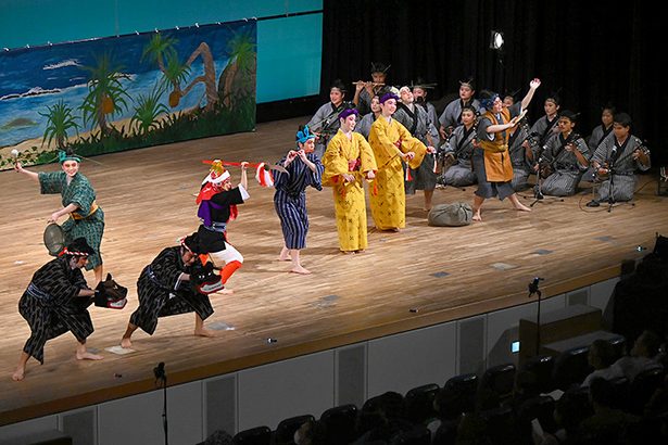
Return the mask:
{"type": "Polygon", "coordinates": [[[202,320],[209,318],[213,314],[209,296],[197,292],[190,281],[180,281],[181,272],[189,274],[190,267],[184,264],[180,246],[163,250],[144,267],[137,281],[139,307],[130,323],[152,335],[159,317],[194,312],[202,320]]]}

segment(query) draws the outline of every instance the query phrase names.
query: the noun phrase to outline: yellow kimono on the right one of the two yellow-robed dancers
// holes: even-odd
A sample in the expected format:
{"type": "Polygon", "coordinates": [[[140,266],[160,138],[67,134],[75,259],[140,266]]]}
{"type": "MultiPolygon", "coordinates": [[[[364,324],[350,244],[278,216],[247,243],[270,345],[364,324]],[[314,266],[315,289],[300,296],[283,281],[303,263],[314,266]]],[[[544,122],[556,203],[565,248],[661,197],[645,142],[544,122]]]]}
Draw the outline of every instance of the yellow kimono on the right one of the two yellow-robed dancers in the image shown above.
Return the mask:
{"type": "Polygon", "coordinates": [[[374,180],[371,215],[380,230],[401,229],[406,226],[406,194],[401,153],[414,152],[408,165],[417,168],[427,153],[427,147],[394,119],[379,116],[369,132],[369,144],[376,156],[378,173],[374,180]],[[395,142],[401,141],[400,148],[395,142]]]}

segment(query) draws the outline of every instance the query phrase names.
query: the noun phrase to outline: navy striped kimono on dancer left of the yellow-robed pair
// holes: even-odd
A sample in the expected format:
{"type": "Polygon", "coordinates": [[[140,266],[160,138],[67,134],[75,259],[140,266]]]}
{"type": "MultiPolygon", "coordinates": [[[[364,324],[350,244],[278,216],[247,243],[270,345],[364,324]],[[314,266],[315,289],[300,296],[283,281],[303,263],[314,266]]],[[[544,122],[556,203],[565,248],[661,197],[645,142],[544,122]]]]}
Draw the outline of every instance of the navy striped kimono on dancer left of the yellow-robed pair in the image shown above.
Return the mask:
{"type": "MultiPolygon", "coordinates": [[[[308,161],[315,164],[315,171],[300,160],[286,167],[289,175],[274,171],[274,208],[280,219],[280,227],[288,249],[304,249],[306,246],[306,233],[308,232],[308,215],[306,214],[306,188],[313,187],[323,190],[323,163],[314,153],[307,153],[308,161]]],[[[285,165],[286,157],[278,162],[285,165]]]]}

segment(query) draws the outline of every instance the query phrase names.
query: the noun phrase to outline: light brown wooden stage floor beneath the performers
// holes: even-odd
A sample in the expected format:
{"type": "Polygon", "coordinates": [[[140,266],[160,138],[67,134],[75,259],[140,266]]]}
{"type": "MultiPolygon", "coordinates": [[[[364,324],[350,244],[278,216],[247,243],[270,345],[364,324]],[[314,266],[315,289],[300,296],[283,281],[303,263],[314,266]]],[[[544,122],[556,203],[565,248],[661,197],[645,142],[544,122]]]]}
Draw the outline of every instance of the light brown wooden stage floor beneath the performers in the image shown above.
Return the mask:
{"type": "MultiPolygon", "coordinates": [[[[652,249],[655,233],[668,232],[667,198],[656,195],[655,177],[643,175],[634,205],[612,212],[584,207],[591,190],[563,202],[545,200],[531,213],[489,200],[483,223],[459,228],[427,226],[418,192],[407,198],[404,230],[370,230],[366,252],[344,255],[332,192],[313,189],[302,252],[313,275],[299,276],[277,260],[282,237],[273,190],[249,178],[251,199],[228,228],[245,262],[229,282],[235,293],[212,297],[215,314],[206,321],[217,336],[193,336],[194,316],[187,314],[160,319],[153,336],[137,331],[131,354],[106,352],[119,344],[137,307],[141,269],[198,227],[194,194],[207,174],[201,161],[274,163],[293,147],[303,120],[85,161],[81,173],[92,181],[106,218],[105,271],[129,288],[129,302],[123,310],[91,308],[96,332],[88,346],[104,356],[102,361],[77,361],[76,342],[65,334],[47,343],[43,366],[28,361],[22,382],[11,379],[29,336],[17,302],[33,272],[51,259],[41,237],[60,196],[39,195],[26,177],[0,173],[0,425],[154,390],[152,369],[160,361],[168,364],[169,383],[179,384],[526,303],[527,284],[535,276],[545,278],[544,295],[556,295],[617,276],[623,259],[644,254],[638,246],[652,249]]],[[[239,170],[231,173],[236,183],[239,170]]],[[[474,190],[437,190],[434,204],[470,203],[474,190]]],[[[521,199],[533,201],[529,192],[521,199]]],[[[92,272],[87,278],[92,280],[92,272]]]]}

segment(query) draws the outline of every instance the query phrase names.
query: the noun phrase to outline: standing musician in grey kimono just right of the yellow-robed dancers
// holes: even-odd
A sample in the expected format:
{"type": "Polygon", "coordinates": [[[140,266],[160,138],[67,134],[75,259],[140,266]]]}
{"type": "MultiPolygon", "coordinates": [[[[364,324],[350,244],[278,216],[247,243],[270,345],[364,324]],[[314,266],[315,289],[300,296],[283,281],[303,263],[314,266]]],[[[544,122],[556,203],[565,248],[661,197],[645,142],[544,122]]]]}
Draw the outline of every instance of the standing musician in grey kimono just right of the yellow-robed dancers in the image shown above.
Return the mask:
{"type": "Polygon", "coordinates": [[[425,192],[425,209],[431,209],[431,198],[436,189],[436,147],[439,147],[439,131],[429,118],[427,111],[414,103],[413,91],[408,87],[399,90],[401,102],[396,104],[394,119],[427,145],[427,155],[417,169],[411,169],[413,180],[406,181],[406,193],[414,194],[416,190],[425,192]]]}

